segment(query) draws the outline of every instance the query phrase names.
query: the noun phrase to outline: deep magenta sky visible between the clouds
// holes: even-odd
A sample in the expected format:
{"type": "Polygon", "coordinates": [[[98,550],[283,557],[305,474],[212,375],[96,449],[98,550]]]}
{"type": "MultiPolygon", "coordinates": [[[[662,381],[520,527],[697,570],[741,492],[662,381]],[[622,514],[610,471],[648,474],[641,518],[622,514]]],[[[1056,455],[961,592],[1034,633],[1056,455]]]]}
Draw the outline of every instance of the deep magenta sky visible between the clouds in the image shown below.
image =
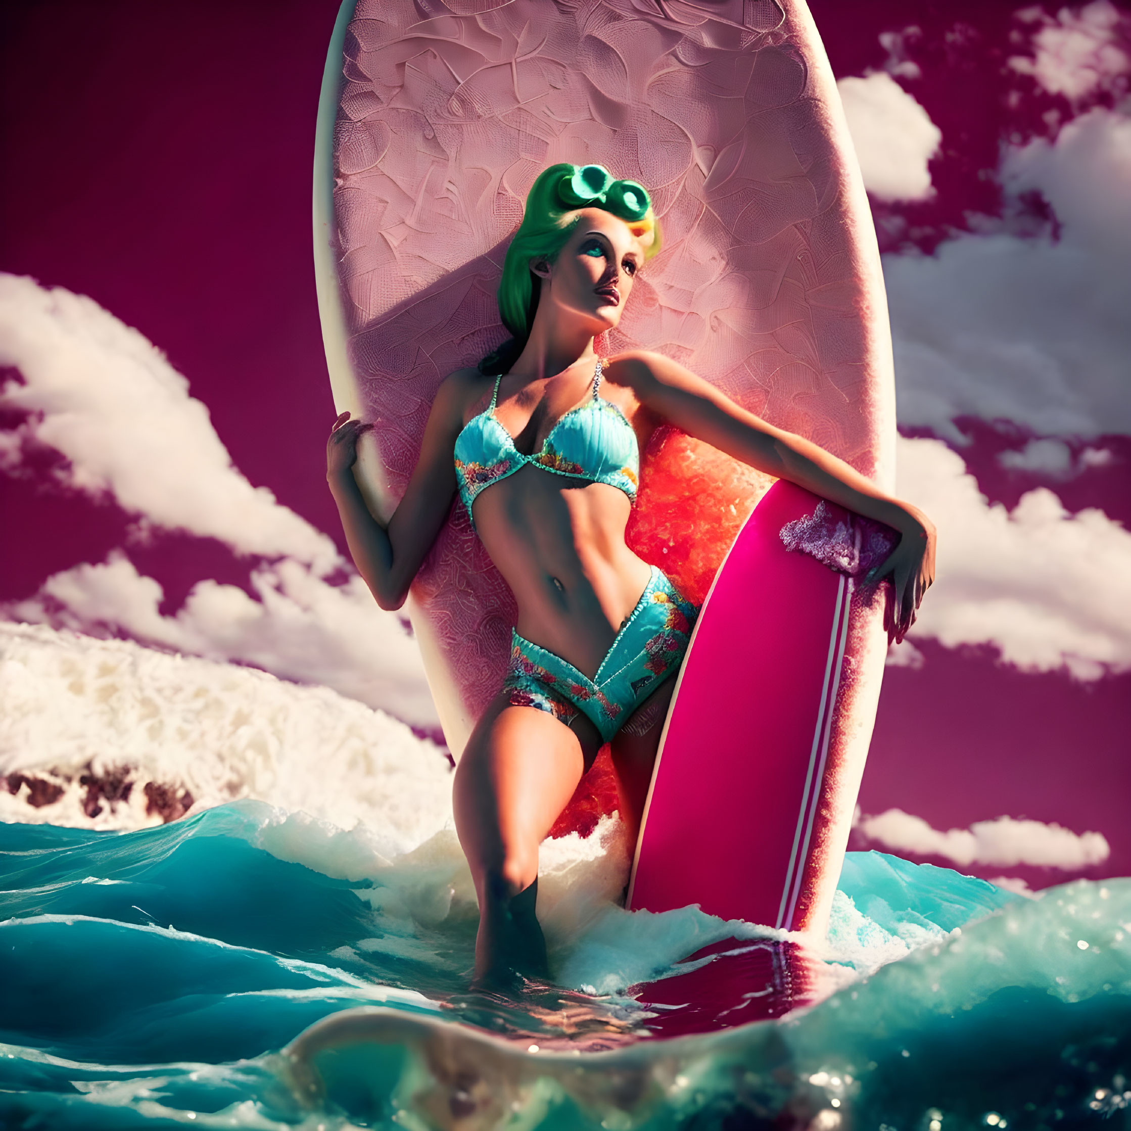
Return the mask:
{"type": "MultiPolygon", "coordinates": [[[[811,7],[838,78],[890,62],[880,35],[912,19],[896,0],[811,7]]],[[[1073,113],[1031,83],[1011,103],[1020,88],[1007,67],[1019,50],[1010,36],[1029,27],[1016,7],[914,6],[922,34],[905,42],[922,77],[905,88],[943,143],[933,199],[875,206],[882,250],[931,252],[956,228],[977,227],[972,214],[1000,215],[1001,146],[1047,135],[1050,112],[1073,113]]],[[[323,480],[334,413],[310,250],[314,113],[336,10],[336,0],[6,5],[0,269],[89,295],[137,328],[188,378],[251,483],[344,549],[323,480]]],[[[1039,199],[1025,207],[1033,223],[1047,216],[1039,199]]],[[[960,455],[992,501],[1012,507],[1045,483],[1070,511],[1131,520],[1122,430],[1088,441],[1113,452],[1108,464],[1067,481],[1001,466],[1024,426],[970,420],[965,430],[960,455]]],[[[124,511],[51,485],[45,470],[0,478],[0,601],[127,544],[124,511]]],[[[219,542],[158,533],[129,555],[164,585],[163,612],[202,577],[248,587],[247,562],[219,542]]],[[[920,648],[921,668],[888,670],[863,811],[899,808],[936,829],[1010,814],[1098,830],[1111,857],[1082,874],[1131,873],[1131,675],[1080,683],[1005,666],[988,647],[920,648]]],[[[970,870],[1033,887],[1065,878],[970,870]]]]}

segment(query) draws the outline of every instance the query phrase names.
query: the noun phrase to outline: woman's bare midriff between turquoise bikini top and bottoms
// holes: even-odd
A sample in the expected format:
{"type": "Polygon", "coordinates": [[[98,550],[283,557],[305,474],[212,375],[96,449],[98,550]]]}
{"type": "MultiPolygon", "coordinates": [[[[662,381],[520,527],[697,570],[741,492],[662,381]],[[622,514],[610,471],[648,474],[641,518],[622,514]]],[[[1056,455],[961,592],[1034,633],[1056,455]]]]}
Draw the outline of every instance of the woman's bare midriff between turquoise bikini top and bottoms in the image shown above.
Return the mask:
{"type": "Polygon", "coordinates": [[[605,483],[524,467],[475,500],[475,527],[518,603],[519,636],[593,677],[650,575],[605,483]]]}

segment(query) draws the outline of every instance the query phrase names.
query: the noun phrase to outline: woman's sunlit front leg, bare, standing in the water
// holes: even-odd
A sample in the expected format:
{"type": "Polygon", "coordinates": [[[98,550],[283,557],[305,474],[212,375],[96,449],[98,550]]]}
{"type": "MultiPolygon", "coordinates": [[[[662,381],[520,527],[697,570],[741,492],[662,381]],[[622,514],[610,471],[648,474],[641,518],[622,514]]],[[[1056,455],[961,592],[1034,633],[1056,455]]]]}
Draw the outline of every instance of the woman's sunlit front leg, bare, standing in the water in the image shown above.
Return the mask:
{"type": "Polygon", "coordinates": [[[546,976],[535,917],[538,845],[566,808],[601,740],[579,715],[572,727],[500,696],[456,767],[456,831],[480,899],[475,981],[546,976]]]}

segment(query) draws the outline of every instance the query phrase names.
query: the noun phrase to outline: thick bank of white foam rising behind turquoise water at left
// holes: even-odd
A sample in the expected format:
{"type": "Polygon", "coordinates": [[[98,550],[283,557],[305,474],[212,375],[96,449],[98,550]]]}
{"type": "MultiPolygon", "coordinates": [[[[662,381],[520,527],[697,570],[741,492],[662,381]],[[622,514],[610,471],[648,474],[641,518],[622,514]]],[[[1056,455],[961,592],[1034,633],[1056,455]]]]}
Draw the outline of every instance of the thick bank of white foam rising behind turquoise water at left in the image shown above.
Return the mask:
{"type": "Polygon", "coordinates": [[[451,822],[443,751],[380,710],[327,688],[44,625],[0,623],[0,774],[62,794],[0,791],[0,819],[97,829],[158,823],[143,786],[188,791],[192,811],[253,797],[407,852],[451,822]],[[126,770],[126,801],[83,808],[84,772],[126,770]]]}

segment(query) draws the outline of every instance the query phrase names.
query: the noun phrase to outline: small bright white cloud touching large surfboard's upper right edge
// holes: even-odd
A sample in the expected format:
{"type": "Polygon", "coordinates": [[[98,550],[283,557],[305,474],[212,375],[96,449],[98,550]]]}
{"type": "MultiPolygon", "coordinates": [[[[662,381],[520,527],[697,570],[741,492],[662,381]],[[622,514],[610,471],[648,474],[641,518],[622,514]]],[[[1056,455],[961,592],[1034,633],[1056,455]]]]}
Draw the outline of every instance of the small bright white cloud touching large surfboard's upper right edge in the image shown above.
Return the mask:
{"type": "Polygon", "coordinates": [[[942,132],[927,112],[884,71],[837,83],[864,187],[880,200],[931,196],[927,162],[942,132]]]}

